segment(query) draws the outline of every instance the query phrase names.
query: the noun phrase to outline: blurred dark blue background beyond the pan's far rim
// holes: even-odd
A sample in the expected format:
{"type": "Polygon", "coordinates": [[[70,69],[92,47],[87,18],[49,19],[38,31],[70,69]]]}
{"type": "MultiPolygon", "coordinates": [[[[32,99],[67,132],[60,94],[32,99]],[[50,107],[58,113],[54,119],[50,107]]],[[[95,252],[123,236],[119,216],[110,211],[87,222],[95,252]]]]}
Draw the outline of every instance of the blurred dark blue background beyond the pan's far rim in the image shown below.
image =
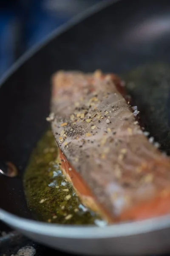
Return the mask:
{"type": "Polygon", "coordinates": [[[0,77],[26,50],[101,1],[105,0],[1,0],[0,77]]]}

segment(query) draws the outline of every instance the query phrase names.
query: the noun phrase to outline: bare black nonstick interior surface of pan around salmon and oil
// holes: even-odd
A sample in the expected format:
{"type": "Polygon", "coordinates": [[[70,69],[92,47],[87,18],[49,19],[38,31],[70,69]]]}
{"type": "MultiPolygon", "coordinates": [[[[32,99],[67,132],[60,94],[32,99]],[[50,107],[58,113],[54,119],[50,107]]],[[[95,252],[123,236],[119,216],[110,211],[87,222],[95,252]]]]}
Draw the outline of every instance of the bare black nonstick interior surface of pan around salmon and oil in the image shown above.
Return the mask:
{"type": "MultiPolygon", "coordinates": [[[[60,69],[84,72],[101,69],[104,72],[124,74],[148,63],[170,63],[170,1],[111,2],[113,3],[108,3],[108,6],[80,20],[65,32],[59,35],[54,32],[54,37],[48,43],[25,61],[21,61],[22,65],[19,62],[17,70],[11,72],[1,84],[0,159],[10,160],[20,169],[19,177],[0,176],[2,209],[31,218],[23,193],[22,175],[32,149],[48,127],[45,117],[49,113],[52,73],[60,69]]],[[[169,93],[169,67],[166,66],[162,72],[161,77],[167,83],[161,98],[164,101],[164,96],[169,93]]],[[[154,72],[152,76],[154,80],[154,72]]],[[[133,80],[132,77],[130,79],[133,80]]],[[[140,86],[144,84],[141,83],[140,86]]],[[[139,102],[139,110],[145,110],[147,128],[154,135],[155,123],[148,123],[149,112],[145,108],[146,102],[142,100],[142,97],[146,97],[146,94],[142,96],[144,90],[140,90],[140,93],[138,90],[133,93],[131,87],[129,90],[136,103],[139,102]]],[[[147,107],[150,105],[149,97],[152,97],[152,93],[149,93],[150,91],[147,92],[147,107]]],[[[161,122],[166,122],[168,132],[170,116],[166,106],[169,98],[165,98],[163,108],[167,110],[167,114],[161,122]]],[[[159,116],[155,117],[155,122],[157,118],[159,116]]],[[[159,125],[156,134],[156,138],[161,140],[161,128],[158,136],[159,125]]],[[[162,136],[165,141],[168,134],[162,136]]],[[[168,148],[167,143],[166,149],[168,148]]]]}

